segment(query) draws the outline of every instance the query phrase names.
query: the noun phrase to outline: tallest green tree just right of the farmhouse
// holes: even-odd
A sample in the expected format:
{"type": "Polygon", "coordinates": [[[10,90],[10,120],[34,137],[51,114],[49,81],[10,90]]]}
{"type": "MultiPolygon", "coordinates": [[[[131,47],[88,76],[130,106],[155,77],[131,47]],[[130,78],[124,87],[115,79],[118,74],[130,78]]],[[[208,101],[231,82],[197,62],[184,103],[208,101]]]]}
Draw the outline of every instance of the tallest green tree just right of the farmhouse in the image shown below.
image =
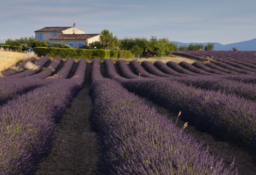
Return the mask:
{"type": "Polygon", "coordinates": [[[113,36],[113,33],[110,33],[109,30],[102,30],[100,35],[100,43],[104,49],[118,49],[120,42],[116,36],[113,36]]]}

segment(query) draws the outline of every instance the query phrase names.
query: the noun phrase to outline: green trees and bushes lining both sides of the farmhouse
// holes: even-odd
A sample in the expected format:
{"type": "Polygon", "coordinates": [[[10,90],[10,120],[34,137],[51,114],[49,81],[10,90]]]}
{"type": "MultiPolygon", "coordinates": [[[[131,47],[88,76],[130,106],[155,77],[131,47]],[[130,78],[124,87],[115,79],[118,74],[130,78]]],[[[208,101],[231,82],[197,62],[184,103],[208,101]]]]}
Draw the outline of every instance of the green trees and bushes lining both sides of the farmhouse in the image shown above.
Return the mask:
{"type": "MultiPolygon", "coordinates": [[[[7,39],[4,45],[10,46],[22,46],[27,50],[34,47],[55,47],[55,48],[70,48],[65,43],[52,43],[49,45],[46,41],[36,40],[34,37],[21,37],[20,39],[7,39]]],[[[193,45],[178,46],[176,43],[170,43],[167,38],[157,39],[152,36],[150,39],[146,37],[125,37],[124,39],[118,39],[109,30],[102,30],[100,40],[84,45],[81,48],[86,49],[110,49],[110,50],[127,50],[132,51],[135,56],[170,56],[173,51],[184,50],[213,50],[214,43],[208,43],[207,45],[193,45]]]]}

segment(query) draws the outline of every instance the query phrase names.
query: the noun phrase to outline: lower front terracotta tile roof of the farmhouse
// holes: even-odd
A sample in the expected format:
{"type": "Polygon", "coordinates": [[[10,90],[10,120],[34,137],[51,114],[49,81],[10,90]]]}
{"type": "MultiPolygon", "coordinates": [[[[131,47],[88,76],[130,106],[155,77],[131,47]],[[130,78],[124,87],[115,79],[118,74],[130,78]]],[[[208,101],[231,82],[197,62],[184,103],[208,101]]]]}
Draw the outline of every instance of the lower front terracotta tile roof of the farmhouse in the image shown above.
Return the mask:
{"type": "Polygon", "coordinates": [[[61,34],[60,36],[53,37],[50,40],[87,40],[97,35],[100,34],[61,34]]]}

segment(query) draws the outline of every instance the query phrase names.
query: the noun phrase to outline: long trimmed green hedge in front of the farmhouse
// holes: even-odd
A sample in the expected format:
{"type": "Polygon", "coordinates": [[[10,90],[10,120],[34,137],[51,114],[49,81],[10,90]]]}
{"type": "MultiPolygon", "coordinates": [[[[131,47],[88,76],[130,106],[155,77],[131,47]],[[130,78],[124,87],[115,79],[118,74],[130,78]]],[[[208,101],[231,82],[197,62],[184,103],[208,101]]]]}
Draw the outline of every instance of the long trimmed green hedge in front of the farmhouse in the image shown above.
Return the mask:
{"type": "Polygon", "coordinates": [[[61,57],[74,59],[120,59],[120,58],[132,58],[131,51],[112,51],[105,49],[73,49],[73,48],[46,48],[46,47],[35,47],[34,52],[37,56],[49,56],[49,57],[61,57]]]}

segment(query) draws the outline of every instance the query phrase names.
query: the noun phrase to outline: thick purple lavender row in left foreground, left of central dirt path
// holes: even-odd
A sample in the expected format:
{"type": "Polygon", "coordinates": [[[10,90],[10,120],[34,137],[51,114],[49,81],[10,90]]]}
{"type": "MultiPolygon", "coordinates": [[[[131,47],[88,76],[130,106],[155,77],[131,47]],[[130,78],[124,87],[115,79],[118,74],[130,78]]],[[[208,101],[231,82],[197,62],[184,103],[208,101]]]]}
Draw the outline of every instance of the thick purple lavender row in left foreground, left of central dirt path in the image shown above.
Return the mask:
{"type": "Polygon", "coordinates": [[[56,80],[0,108],[0,174],[33,171],[49,153],[56,124],[79,89],[75,81],[56,80]]]}

